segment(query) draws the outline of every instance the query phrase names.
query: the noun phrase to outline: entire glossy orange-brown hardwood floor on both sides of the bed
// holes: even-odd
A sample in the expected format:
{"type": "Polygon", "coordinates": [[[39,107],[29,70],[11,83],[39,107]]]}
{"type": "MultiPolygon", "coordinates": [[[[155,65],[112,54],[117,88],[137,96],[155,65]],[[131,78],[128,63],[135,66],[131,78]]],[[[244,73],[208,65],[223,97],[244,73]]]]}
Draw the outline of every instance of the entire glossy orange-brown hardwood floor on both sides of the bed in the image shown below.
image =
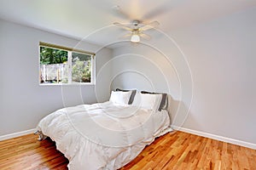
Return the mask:
{"type": "MultiPolygon", "coordinates": [[[[50,139],[28,134],[0,142],[0,169],[67,169],[50,139]]],[[[256,150],[173,132],[156,139],[126,169],[256,169],[256,150]]]]}

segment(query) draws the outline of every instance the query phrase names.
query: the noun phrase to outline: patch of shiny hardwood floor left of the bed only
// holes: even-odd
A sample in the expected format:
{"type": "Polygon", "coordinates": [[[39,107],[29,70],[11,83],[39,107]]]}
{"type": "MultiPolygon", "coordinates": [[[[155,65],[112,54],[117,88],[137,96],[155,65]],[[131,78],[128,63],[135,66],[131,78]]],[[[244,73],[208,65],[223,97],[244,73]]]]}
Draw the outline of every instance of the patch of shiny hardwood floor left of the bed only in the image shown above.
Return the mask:
{"type": "Polygon", "coordinates": [[[0,141],[1,170],[67,169],[67,163],[49,138],[38,141],[38,135],[28,134],[0,141]]]}

